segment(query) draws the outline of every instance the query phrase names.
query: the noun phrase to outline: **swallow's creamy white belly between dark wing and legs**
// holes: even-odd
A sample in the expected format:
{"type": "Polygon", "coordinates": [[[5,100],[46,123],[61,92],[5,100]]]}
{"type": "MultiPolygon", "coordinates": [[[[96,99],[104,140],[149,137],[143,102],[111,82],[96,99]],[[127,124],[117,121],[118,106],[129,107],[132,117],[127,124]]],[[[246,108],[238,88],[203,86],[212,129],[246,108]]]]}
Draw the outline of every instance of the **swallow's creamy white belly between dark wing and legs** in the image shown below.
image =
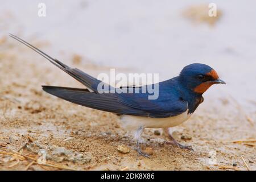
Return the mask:
{"type": "Polygon", "coordinates": [[[134,115],[121,115],[121,125],[127,130],[137,130],[139,127],[159,129],[180,125],[187,121],[189,117],[191,117],[191,114],[188,114],[188,110],[180,115],[169,118],[147,118],[134,115]]]}

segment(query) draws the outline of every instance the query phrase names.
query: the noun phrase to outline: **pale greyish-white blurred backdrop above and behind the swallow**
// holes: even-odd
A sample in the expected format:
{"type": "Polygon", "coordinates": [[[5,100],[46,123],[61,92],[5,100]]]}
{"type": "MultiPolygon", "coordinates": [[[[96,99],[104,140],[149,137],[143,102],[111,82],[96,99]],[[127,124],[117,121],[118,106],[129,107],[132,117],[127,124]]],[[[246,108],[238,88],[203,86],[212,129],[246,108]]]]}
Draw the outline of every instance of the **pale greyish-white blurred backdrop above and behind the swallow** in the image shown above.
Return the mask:
{"type": "Polygon", "coordinates": [[[217,17],[209,18],[212,2],[2,0],[0,35],[43,40],[53,57],[75,52],[99,65],[160,73],[160,80],[187,64],[208,64],[227,85],[206,94],[221,89],[255,108],[256,2],[214,1],[217,17]],[[38,16],[42,2],[45,17],[38,16]]]}

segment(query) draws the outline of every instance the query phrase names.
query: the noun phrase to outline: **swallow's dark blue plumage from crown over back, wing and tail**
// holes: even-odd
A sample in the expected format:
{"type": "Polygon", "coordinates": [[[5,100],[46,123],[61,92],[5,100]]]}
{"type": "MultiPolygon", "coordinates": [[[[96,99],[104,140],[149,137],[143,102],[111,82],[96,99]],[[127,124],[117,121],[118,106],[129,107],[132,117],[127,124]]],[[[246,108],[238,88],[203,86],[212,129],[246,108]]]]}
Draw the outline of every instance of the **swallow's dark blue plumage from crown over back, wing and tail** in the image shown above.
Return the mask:
{"type": "MultiPolygon", "coordinates": [[[[159,97],[156,100],[148,100],[149,93],[141,92],[99,94],[97,93],[97,86],[101,82],[100,80],[80,71],[80,69],[70,68],[24,40],[14,35],[11,36],[34,49],[34,51],[92,90],[92,92],[89,92],[86,89],[43,86],[44,91],[75,104],[94,109],[152,118],[172,117],[184,113],[187,110],[188,113],[193,113],[202,101],[201,95],[203,94],[196,93],[193,89],[204,81],[214,81],[214,78],[211,76],[208,78],[205,77],[204,80],[199,79],[198,76],[206,76],[213,69],[208,65],[195,63],[184,67],[179,76],[159,82],[159,97]]],[[[110,87],[110,89],[113,89],[113,87],[110,87]]]]}

